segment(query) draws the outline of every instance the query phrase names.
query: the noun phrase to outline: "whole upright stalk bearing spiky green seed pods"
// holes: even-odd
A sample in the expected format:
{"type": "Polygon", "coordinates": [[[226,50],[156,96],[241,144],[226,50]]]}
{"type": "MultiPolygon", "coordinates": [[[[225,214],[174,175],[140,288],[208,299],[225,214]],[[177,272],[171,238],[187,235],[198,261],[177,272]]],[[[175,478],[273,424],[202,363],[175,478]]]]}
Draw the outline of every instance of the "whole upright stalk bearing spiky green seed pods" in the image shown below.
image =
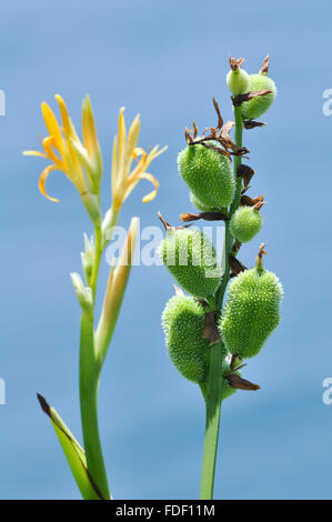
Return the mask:
{"type": "MultiPolygon", "coordinates": [[[[242,378],[241,370],[247,365],[242,364],[242,359],[256,355],[276,328],[282,297],[275,274],[261,264],[248,270],[237,258],[241,244],[261,230],[263,218],[259,211],[264,204],[263,197],[253,199],[247,193],[254,170],[242,164],[242,158],[250,152],[242,144],[242,132],[244,128],[263,126],[253,118],[263,114],[276,96],[274,82],[266,78],[265,64],[259,74],[249,74],[241,69],[243,61],[243,58],[230,58],[231,70],[227,77],[234,121],[224,123],[213,99],[217,126],[207,127],[202,134],[195,122],[192,129],[185,128],[187,148],[178,155],[179,174],[190,190],[192,204],[200,210],[199,213],[182,213],[180,219],[184,222],[224,221],[224,272],[217,281],[210,278],[210,272],[202,274],[207,265],[204,261],[198,262],[200,248],[193,241],[193,233],[181,228],[172,228],[172,234],[167,235],[160,249],[163,263],[190,294],[170,299],[162,325],[174,367],[200,385],[205,401],[202,500],[213,498],[221,404],[235,390],[260,389],[242,378]],[[230,137],[232,129],[234,141],[230,137]],[[191,250],[185,251],[188,237],[191,250]],[[168,262],[167,245],[173,245],[175,262],[168,262]],[[181,249],[185,252],[184,263],[179,255],[181,249]],[[227,290],[228,300],[223,304],[227,290]]],[[[263,252],[263,248],[261,250],[263,252]]]]}

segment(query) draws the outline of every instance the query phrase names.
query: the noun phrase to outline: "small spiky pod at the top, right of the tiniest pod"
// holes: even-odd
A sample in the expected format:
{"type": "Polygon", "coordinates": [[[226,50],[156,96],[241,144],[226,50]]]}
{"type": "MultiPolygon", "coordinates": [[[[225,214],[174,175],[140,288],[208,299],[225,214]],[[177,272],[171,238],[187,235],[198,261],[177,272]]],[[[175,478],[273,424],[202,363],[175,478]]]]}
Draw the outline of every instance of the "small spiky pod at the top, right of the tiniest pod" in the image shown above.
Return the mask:
{"type": "Polygon", "coordinates": [[[242,103],[242,116],[244,120],[254,120],[255,118],[260,118],[271,107],[276,97],[276,87],[271,78],[268,78],[266,74],[260,72],[258,74],[250,74],[249,90],[260,91],[264,89],[272,92],[263,97],[252,98],[252,100],[242,103]]]}

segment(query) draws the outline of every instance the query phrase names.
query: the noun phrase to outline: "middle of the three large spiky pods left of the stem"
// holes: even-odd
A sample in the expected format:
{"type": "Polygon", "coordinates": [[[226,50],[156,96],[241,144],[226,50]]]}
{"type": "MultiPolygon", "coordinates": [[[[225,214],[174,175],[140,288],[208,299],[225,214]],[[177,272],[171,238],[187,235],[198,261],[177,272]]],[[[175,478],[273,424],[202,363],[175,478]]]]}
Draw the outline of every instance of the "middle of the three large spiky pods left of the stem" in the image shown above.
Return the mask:
{"type": "Polygon", "coordinates": [[[197,229],[169,229],[160,257],[180,287],[192,295],[213,295],[222,275],[211,241],[197,229]]]}

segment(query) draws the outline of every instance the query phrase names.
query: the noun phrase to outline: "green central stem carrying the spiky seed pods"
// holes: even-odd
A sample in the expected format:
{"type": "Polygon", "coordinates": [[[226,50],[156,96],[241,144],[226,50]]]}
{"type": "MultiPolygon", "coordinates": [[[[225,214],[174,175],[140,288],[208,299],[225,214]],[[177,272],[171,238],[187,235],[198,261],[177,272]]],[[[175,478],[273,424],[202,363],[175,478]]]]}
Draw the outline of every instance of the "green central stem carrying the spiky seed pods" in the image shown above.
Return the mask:
{"type": "MultiPolygon", "coordinates": [[[[235,133],[234,140],[238,147],[242,147],[242,131],[243,120],[241,114],[241,107],[234,107],[235,119],[235,133]]],[[[230,217],[235,212],[240,205],[242,179],[237,177],[239,165],[241,164],[241,157],[235,155],[233,161],[233,172],[235,178],[235,195],[230,208],[230,217]]],[[[233,238],[230,232],[229,222],[225,224],[225,270],[218,292],[215,293],[217,312],[220,313],[222,309],[224,293],[230,279],[230,261],[229,257],[232,250],[233,238]]],[[[211,347],[210,372],[208,380],[207,391],[203,391],[205,399],[205,438],[204,438],[204,453],[201,478],[201,500],[213,499],[213,485],[215,474],[215,460],[218,450],[218,438],[220,426],[220,409],[222,402],[222,362],[224,360],[224,348],[222,342],[211,347]]]]}

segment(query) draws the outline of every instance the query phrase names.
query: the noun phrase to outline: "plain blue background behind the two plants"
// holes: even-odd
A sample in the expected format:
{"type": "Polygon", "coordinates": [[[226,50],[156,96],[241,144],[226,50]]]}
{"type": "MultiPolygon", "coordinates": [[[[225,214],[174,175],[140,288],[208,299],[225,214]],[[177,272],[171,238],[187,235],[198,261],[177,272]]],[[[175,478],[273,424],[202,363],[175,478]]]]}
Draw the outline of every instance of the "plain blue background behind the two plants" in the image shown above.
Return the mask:
{"type": "MultiPolygon", "coordinates": [[[[330,1],[293,2],[9,1],[1,2],[0,118],[1,314],[0,498],[72,499],[79,492],[54,433],[40,411],[44,394],[81,440],[78,398],[79,307],[69,272],[80,270],[90,223],[73,187],[54,173],[47,201],[37,182],[44,162],[21,155],[44,135],[42,100],[60,92],[79,124],[91,94],[110,202],[111,140],[119,108],[141,113],[141,144],[169,144],[153,163],[158,199],[141,203],[142,183],[121,223],[157,211],[177,222],[192,209],[175,159],[194,118],[214,123],[212,96],[231,118],[228,57],[255,72],[271,54],[279,88],[268,127],[245,133],[256,170],[252,195],[266,193],[265,225],[241,251],[252,264],[269,241],[265,265],[284,284],[283,320],[222,406],[215,498],[331,499],[332,405],[322,381],[332,377],[331,190],[332,117],[322,93],[332,88],[330,1]]],[[[148,188],[150,189],[150,188],[148,188]]],[[[107,280],[102,264],[101,287],[107,280]]],[[[198,387],[168,360],[160,314],[172,294],[161,267],[134,268],[102,373],[100,424],[117,499],[181,499],[199,494],[204,408],[198,387]]]]}

